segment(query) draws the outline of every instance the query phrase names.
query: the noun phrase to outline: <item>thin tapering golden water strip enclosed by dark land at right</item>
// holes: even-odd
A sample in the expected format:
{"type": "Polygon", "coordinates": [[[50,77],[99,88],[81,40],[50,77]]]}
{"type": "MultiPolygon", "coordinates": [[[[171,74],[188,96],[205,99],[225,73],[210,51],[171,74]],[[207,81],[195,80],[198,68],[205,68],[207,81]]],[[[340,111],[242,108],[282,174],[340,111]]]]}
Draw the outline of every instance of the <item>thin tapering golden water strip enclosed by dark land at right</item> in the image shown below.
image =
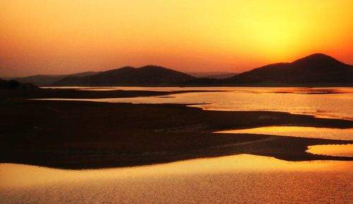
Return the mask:
{"type": "Polygon", "coordinates": [[[304,126],[266,126],[260,128],[218,131],[216,133],[253,133],[274,136],[353,140],[353,128],[316,128],[304,126]]]}

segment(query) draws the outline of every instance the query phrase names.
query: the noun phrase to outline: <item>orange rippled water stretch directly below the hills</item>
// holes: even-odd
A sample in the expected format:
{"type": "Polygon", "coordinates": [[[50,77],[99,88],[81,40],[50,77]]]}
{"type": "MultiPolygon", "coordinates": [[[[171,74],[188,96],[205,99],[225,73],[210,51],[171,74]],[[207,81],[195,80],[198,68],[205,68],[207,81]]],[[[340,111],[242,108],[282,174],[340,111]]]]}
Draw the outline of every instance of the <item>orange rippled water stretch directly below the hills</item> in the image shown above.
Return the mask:
{"type": "MultiPolygon", "coordinates": [[[[67,87],[66,87],[67,88],[67,87]]],[[[71,87],[72,88],[72,87],[71,87]]],[[[353,120],[353,88],[80,88],[82,90],[222,90],[168,97],[92,99],[96,102],[180,103],[231,111],[276,111],[353,120]]],[[[65,100],[65,99],[54,99],[65,100]]]]}

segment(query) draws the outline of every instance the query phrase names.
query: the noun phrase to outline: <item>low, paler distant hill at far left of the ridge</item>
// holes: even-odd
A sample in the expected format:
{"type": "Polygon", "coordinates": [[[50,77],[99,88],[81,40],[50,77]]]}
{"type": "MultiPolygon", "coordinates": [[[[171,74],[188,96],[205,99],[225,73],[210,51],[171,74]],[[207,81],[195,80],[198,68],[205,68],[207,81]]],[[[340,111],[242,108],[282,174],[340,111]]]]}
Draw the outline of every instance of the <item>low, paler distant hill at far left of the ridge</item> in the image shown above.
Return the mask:
{"type": "Polygon", "coordinates": [[[83,77],[83,76],[91,76],[97,72],[94,71],[86,71],[82,73],[73,73],[66,75],[35,75],[35,76],[26,76],[13,78],[14,80],[18,80],[21,83],[32,83],[37,86],[49,86],[55,83],[58,80],[66,77],[83,77]]]}

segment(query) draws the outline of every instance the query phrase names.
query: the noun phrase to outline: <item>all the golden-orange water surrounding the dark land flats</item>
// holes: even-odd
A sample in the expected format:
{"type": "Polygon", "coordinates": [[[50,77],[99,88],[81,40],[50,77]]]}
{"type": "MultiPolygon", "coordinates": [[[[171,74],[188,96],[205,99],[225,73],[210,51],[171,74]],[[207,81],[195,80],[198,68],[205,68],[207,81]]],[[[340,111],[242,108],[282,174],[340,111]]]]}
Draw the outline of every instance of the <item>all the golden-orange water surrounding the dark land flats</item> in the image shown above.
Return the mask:
{"type": "MultiPolygon", "coordinates": [[[[353,88],[76,89],[219,90],[90,101],[193,104],[220,111],[276,111],[353,120],[353,88]]],[[[272,126],[228,133],[237,131],[353,140],[352,128],[272,126]]],[[[353,145],[313,145],[307,152],[351,157],[353,145]]],[[[353,203],[352,172],[349,161],[287,162],[254,155],[95,170],[0,164],[0,203],[353,203]]]]}

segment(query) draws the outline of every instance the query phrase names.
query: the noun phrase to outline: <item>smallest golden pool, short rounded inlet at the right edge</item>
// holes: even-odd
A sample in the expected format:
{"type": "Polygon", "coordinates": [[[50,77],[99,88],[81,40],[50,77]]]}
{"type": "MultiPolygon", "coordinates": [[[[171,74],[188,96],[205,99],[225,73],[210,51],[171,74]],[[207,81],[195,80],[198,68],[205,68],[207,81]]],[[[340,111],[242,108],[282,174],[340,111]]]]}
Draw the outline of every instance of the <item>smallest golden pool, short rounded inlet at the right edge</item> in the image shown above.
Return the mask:
{"type": "Polygon", "coordinates": [[[353,144],[348,145],[312,145],[308,147],[311,154],[353,157],[353,144]]]}

